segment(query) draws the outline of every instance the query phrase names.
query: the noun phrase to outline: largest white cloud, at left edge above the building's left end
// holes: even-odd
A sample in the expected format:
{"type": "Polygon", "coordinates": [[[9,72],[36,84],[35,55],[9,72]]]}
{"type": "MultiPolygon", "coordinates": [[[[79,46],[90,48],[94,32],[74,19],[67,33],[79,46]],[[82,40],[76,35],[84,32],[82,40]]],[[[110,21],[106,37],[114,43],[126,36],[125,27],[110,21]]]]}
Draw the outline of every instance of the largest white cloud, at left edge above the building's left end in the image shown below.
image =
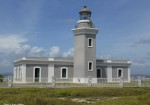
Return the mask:
{"type": "Polygon", "coordinates": [[[31,46],[26,44],[27,38],[21,35],[0,36],[0,53],[13,55],[14,57],[22,56],[45,56],[46,50],[42,47],[31,46]]]}

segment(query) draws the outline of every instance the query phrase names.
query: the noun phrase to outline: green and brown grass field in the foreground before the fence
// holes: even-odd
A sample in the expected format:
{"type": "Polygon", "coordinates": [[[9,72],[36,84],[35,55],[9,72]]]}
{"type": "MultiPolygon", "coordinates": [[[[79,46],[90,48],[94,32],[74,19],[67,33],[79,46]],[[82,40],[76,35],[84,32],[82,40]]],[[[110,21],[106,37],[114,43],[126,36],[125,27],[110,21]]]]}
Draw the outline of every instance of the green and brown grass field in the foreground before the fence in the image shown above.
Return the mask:
{"type": "Polygon", "coordinates": [[[150,105],[150,88],[0,88],[0,105],[150,105]]]}

